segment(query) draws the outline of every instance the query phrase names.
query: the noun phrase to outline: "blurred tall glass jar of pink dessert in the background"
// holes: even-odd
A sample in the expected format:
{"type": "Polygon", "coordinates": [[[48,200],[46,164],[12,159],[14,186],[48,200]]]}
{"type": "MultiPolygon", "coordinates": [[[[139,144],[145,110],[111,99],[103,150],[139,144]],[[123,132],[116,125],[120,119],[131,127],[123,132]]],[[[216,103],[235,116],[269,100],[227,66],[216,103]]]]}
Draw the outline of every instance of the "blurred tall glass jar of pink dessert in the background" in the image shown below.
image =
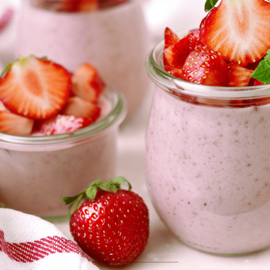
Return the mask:
{"type": "Polygon", "coordinates": [[[47,56],[69,70],[90,62],[124,94],[127,117],[136,112],[150,83],[140,0],[24,0],[18,21],[15,58],[47,56]]]}

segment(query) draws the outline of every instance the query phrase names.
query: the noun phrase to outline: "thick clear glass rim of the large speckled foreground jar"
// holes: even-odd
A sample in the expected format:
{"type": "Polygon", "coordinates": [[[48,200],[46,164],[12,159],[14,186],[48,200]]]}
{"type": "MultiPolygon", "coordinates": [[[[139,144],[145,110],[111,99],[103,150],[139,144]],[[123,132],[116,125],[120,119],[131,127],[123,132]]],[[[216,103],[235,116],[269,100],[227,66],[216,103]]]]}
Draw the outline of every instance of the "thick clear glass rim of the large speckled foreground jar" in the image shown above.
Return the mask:
{"type": "MultiPolygon", "coordinates": [[[[187,31],[177,32],[176,34],[181,37],[186,35],[187,31]]],[[[270,97],[270,84],[246,87],[225,87],[196,84],[177,78],[164,69],[163,50],[164,40],[158,43],[149,52],[146,57],[145,66],[152,82],[169,93],[173,90],[179,94],[220,100],[270,97]]]]}

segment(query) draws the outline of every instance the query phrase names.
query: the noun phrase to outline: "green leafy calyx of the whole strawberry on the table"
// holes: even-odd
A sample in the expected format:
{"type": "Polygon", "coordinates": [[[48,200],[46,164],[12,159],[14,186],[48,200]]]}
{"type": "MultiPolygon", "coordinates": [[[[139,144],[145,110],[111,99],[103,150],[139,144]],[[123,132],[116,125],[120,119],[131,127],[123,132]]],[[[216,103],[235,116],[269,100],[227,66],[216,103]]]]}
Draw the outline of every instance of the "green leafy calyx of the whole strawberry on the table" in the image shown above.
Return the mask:
{"type": "Polygon", "coordinates": [[[74,205],[75,202],[77,202],[73,212],[75,212],[78,207],[79,203],[82,199],[90,199],[93,201],[95,199],[95,196],[98,192],[98,190],[105,190],[105,191],[111,191],[113,193],[116,193],[117,190],[120,189],[121,185],[126,185],[128,186],[128,190],[131,190],[131,184],[128,182],[127,179],[125,179],[122,176],[117,176],[113,178],[112,180],[106,180],[104,182],[101,182],[100,178],[97,178],[95,181],[91,182],[89,184],[89,187],[80,192],[78,195],[73,196],[73,197],[62,197],[62,200],[66,203],[69,204],[68,207],[68,213],[70,215],[70,209],[74,205]]]}

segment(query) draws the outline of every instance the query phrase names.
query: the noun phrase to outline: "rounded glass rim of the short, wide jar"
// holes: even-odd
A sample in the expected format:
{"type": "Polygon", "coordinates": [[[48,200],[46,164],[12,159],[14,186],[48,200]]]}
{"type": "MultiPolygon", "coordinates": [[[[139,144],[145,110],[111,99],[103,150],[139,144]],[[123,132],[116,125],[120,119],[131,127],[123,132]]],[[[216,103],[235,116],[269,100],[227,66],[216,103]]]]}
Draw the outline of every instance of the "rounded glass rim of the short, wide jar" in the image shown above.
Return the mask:
{"type": "Polygon", "coordinates": [[[106,87],[102,98],[109,102],[110,112],[97,122],[79,130],[43,136],[23,136],[0,132],[0,148],[17,151],[54,151],[67,149],[96,140],[119,127],[127,113],[124,96],[119,91],[106,87]]]}

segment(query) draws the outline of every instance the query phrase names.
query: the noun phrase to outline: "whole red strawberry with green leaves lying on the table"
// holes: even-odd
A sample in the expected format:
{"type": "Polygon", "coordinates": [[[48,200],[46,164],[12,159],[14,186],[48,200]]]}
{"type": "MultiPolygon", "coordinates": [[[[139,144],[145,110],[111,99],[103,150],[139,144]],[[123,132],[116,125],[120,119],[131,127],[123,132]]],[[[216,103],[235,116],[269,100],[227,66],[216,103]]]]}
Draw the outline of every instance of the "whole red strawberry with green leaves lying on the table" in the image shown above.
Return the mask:
{"type": "Polygon", "coordinates": [[[95,261],[105,266],[127,265],[146,247],[148,209],[125,178],[96,179],[77,196],[62,199],[70,203],[69,209],[77,202],[70,231],[79,247],[95,261]],[[120,190],[121,184],[128,185],[129,190],[120,190]]]}

